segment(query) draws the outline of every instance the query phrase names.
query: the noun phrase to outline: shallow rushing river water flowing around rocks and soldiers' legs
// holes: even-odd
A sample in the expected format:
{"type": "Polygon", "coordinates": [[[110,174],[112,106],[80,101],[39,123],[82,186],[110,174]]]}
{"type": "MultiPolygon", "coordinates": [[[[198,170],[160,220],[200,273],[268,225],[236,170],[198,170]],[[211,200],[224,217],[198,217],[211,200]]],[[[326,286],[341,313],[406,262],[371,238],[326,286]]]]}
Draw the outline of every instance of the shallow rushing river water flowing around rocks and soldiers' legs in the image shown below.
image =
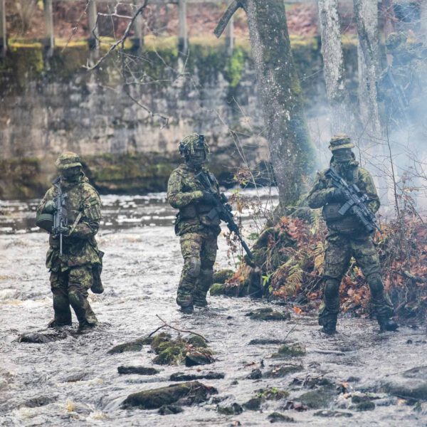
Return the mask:
{"type": "MultiPolygon", "coordinates": [[[[181,270],[179,239],[173,233],[174,211],[164,194],[105,196],[102,202],[104,223],[98,242],[105,251],[105,292],[90,295],[100,326],[77,334],[74,323],[65,328],[64,339],[47,344],[16,342],[23,332],[47,332],[53,311],[44,266],[48,236],[35,228],[33,220],[37,201],[0,205],[0,425],[267,426],[268,414],[280,411],[302,426],[427,426],[424,404],[414,406],[414,401],[379,389],[387,379],[425,363],[424,327],[379,334],[371,320],[340,317],[339,334],[327,337],[319,332],[314,313],[292,312],[291,320],[281,322],[250,320],[246,313],[255,308],[285,307],[249,298],[209,297],[208,308],[182,315],[174,301],[181,270]],[[216,362],[199,368],[159,367],[152,364],[149,346],[141,352],[107,354],[115,344],[143,337],[162,325],[156,315],[175,327],[203,334],[216,362]],[[278,344],[248,345],[256,338],[300,342],[307,354],[271,359],[278,344]],[[281,364],[303,368],[277,379],[246,379],[255,368],[265,372],[281,364]],[[120,365],[161,371],[154,376],[120,375],[120,365]],[[205,404],[185,406],[176,415],[120,407],[129,394],[171,384],[169,376],[177,371],[222,372],[225,378],[201,380],[216,387],[218,395],[205,404]],[[349,418],[320,416],[320,409],[283,408],[310,391],[307,377],[320,375],[337,387],[326,407],[350,414],[349,418]],[[221,406],[243,404],[265,387],[286,389],[290,396],[266,401],[262,411],[234,416],[216,411],[218,401],[221,406]],[[357,411],[352,396],[367,391],[373,393],[375,408],[357,411]]],[[[217,267],[231,263],[221,236],[217,267]]]]}

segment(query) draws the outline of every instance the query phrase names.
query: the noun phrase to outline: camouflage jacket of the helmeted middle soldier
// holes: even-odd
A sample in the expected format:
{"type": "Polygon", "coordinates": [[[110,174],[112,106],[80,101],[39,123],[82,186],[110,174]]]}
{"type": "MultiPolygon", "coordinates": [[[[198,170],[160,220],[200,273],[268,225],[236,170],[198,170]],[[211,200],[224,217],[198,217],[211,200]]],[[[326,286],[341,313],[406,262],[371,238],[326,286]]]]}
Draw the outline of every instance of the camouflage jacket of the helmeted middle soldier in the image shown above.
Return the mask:
{"type": "MultiPolygon", "coordinates": [[[[218,182],[207,169],[212,186],[219,194],[218,182]]],[[[184,233],[209,231],[218,234],[221,231],[218,215],[211,213],[214,206],[204,204],[204,187],[196,178],[196,172],[186,164],[180,164],[169,177],[167,184],[167,200],[173,208],[179,209],[176,215],[175,232],[178,236],[184,233]]]]}

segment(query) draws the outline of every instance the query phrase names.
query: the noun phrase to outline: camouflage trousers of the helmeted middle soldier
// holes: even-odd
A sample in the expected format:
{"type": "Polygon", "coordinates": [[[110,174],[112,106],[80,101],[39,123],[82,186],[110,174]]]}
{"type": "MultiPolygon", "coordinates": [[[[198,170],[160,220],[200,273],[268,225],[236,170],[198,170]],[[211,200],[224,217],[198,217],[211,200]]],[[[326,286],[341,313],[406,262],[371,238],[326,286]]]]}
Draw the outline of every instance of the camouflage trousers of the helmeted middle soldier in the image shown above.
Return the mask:
{"type": "Polygon", "coordinates": [[[212,285],[216,260],[217,233],[199,231],[181,236],[181,253],[184,258],[176,303],[181,307],[204,306],[206,294],[212,285]]]}

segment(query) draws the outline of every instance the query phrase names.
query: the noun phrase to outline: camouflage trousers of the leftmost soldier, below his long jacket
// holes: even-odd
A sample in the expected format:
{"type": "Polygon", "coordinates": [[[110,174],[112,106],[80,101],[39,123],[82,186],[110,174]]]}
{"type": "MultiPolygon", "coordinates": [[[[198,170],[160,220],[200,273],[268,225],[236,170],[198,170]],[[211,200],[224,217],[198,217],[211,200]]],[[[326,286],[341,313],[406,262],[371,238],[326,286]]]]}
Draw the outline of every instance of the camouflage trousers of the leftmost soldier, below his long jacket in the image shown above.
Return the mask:
{"type": "Polygon", "coordinates": [[[88,289],[93,283],[92,265],[52,271],[50,280],[58,325],[71,325],[70,305],[80,325],[96,325],[97,318],[88,302],[88,289]]]}

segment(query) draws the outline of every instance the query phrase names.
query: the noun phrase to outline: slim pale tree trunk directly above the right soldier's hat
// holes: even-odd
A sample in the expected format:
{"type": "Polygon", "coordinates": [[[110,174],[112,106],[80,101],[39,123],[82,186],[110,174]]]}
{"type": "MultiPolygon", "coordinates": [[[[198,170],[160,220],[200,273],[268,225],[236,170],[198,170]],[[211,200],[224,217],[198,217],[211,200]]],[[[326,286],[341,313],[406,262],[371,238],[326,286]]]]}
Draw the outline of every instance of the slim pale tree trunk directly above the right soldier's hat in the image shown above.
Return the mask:
{"type": "Polygon", "coordinates": [[[323,73],[331,106],[332,134],[354,130],[352,110],[345,89],[344,58],[338,0],[319,0],[320,35],[322,37],[323,73]]]}

